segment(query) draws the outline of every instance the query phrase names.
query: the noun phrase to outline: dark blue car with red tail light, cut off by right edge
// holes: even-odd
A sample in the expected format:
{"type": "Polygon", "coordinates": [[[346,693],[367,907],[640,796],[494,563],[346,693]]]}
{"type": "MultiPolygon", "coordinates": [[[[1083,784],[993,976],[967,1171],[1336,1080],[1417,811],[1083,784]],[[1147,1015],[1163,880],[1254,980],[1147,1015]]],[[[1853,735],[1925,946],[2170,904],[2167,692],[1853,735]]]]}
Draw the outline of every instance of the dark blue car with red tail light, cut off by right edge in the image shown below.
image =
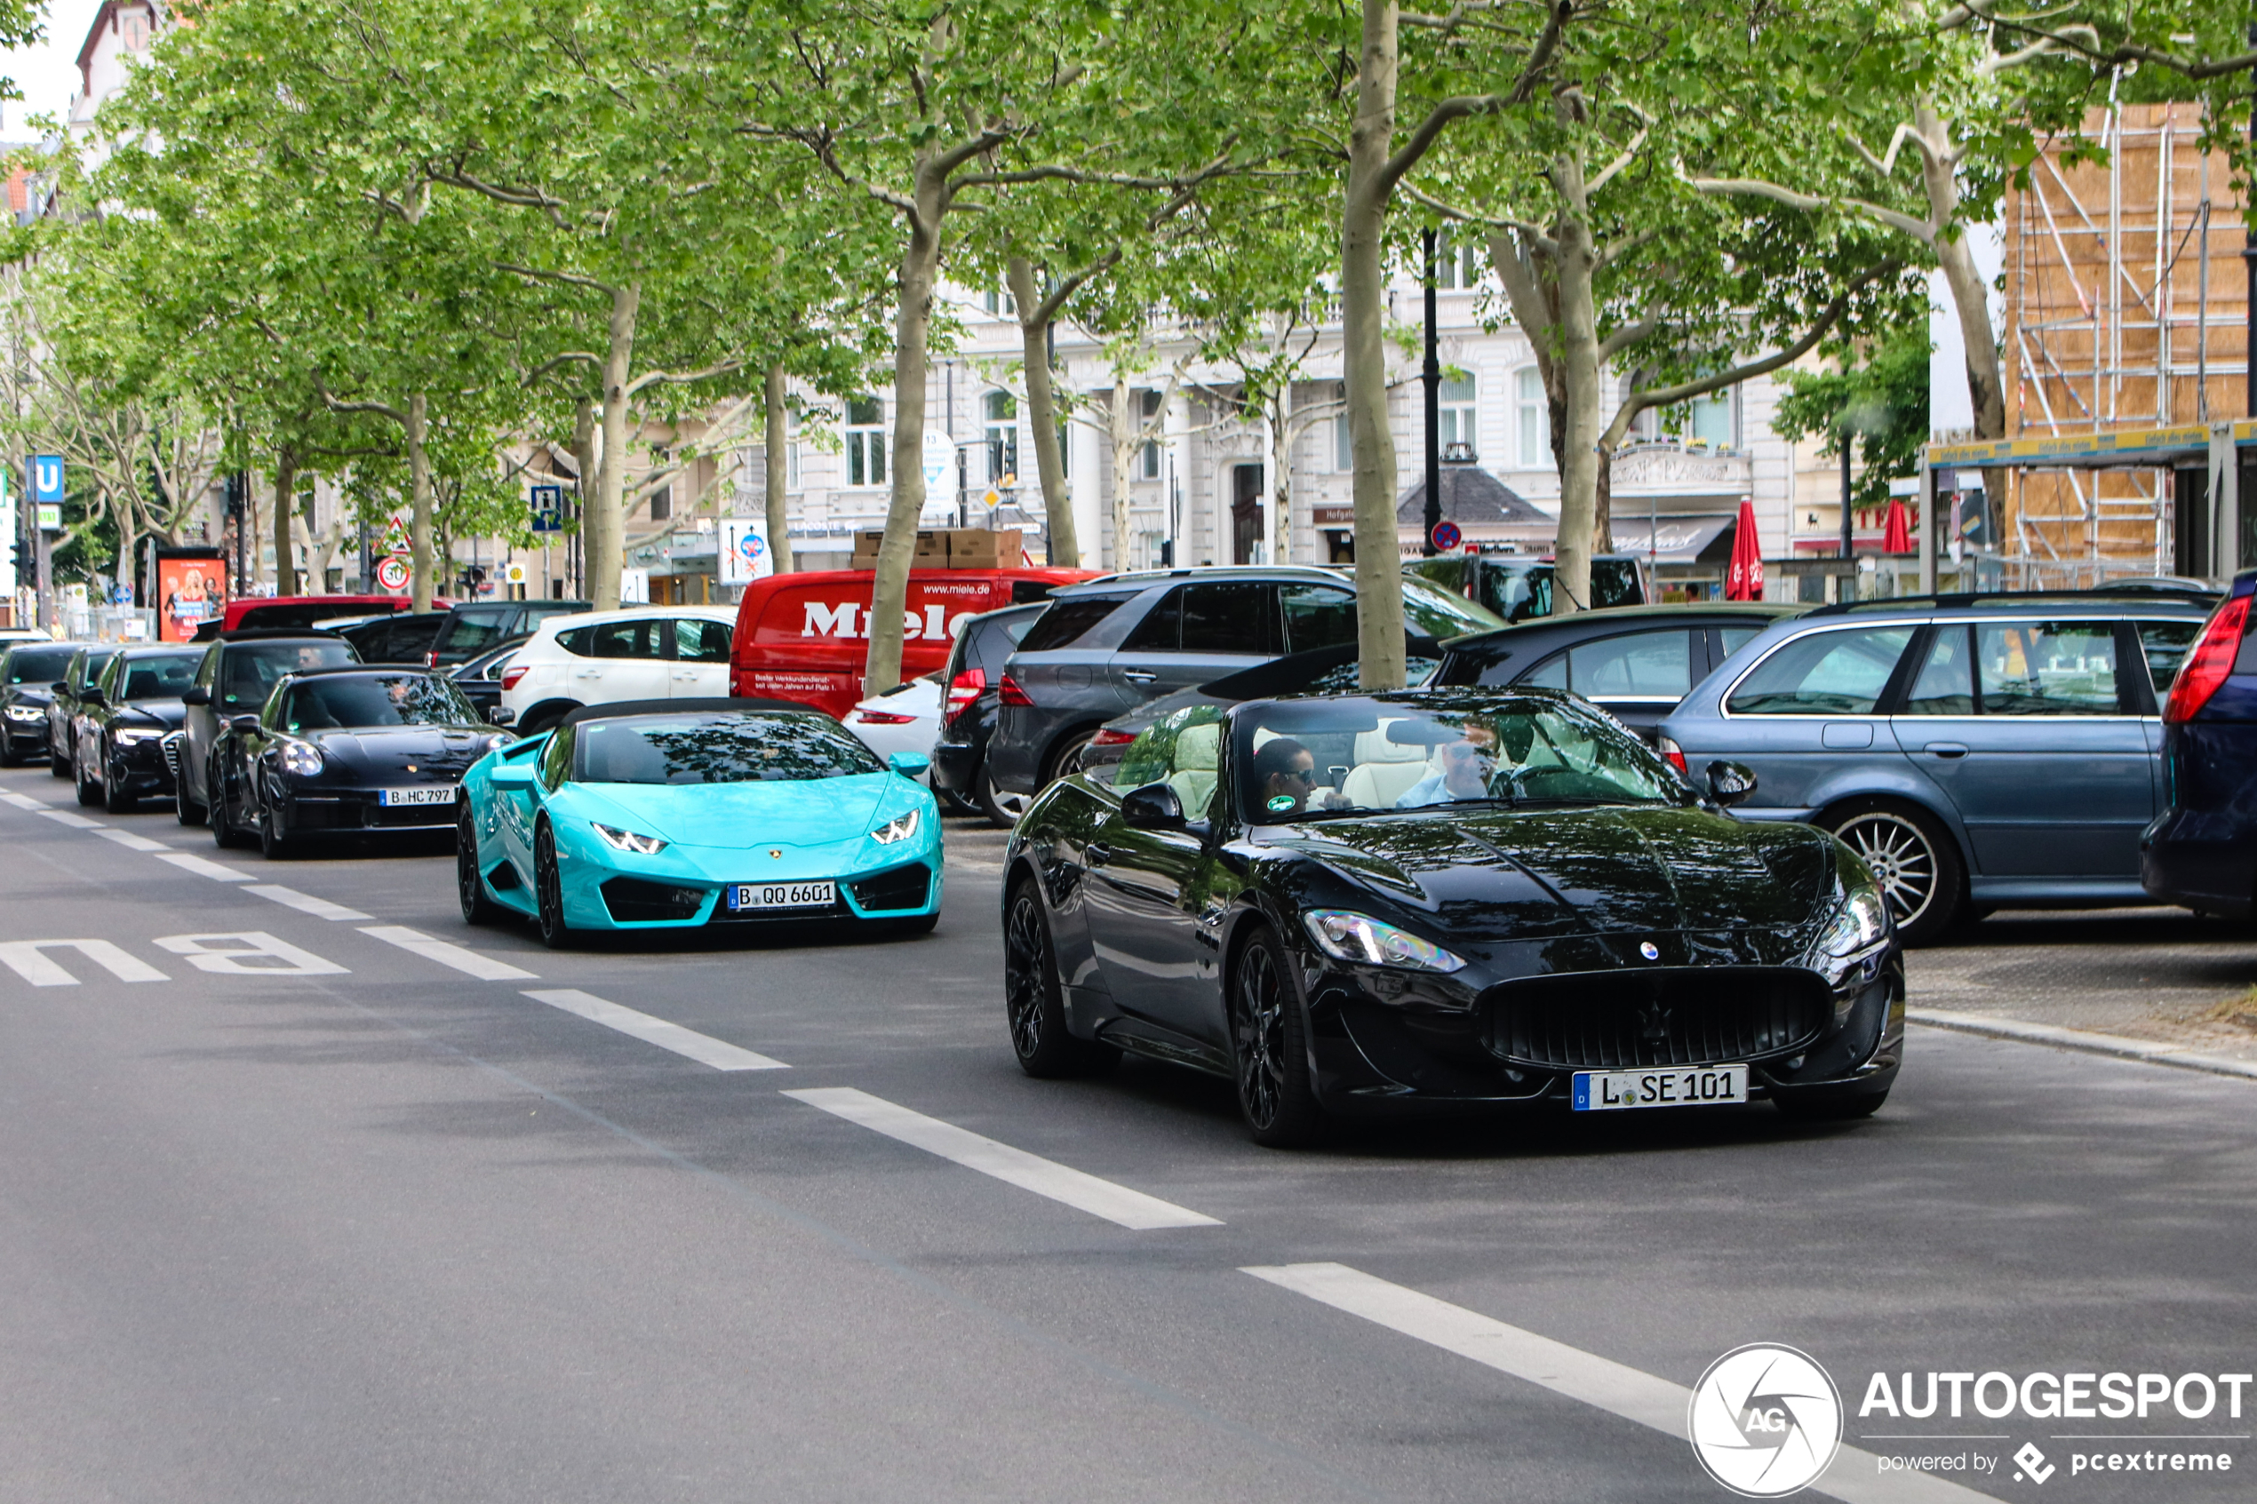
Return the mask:
{"type": "Polygon", "coordinates": [[[2257,913],[2257,568],[2203,625],[2162,708],[2164,809],[2140,837],[2140,882],[2169,902],[2257,913]]]}

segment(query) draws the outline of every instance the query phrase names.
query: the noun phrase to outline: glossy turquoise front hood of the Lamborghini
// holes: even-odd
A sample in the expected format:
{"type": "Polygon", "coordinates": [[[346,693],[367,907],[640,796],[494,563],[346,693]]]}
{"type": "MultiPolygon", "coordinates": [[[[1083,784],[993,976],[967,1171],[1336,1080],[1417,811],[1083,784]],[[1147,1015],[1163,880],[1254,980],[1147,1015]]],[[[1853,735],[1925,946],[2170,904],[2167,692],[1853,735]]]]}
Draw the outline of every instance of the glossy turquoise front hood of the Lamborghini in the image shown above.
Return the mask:
{"type": "Polygon", "coordinates": [[[576,782],[587,812],[618,812],[627,830],[675,846],[736,848],[754,841],[813,846],[867,832],[880,805],[919,805],[923,789],[894,773],[767,778],[754,782],[576,782]]]}

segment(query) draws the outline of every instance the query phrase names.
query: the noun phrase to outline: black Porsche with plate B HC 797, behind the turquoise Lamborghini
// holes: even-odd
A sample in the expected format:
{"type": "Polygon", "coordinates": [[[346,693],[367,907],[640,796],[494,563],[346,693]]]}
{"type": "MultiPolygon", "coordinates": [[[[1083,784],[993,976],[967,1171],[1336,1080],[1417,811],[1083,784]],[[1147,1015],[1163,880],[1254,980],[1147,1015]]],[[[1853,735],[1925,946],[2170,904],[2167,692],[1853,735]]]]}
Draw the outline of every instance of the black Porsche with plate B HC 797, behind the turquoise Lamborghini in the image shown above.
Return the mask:
{"type": "Polygon", "coordinates": [[[309,834],[454,830],[454,787],[508,740],[445,674],[289,674],[212,749],[212,841],[287,857],[309,834]]]}

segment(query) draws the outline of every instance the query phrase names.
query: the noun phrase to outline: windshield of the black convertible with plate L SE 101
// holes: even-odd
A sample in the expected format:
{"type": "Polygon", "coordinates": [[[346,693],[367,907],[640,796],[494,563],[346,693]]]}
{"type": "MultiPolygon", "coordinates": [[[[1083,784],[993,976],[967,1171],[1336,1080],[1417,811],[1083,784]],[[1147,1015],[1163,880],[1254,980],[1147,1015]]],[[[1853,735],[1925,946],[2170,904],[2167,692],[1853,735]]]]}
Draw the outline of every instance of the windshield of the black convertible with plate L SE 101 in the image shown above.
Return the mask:
{"type": "Polygon", "coordinates": [[[1426,708],[1277,701],[1239,713],[1239,807],[1253,823],[1449,805],[1679,805],[1684,782],[1611,717],[1569,699],[1426,708]]]}

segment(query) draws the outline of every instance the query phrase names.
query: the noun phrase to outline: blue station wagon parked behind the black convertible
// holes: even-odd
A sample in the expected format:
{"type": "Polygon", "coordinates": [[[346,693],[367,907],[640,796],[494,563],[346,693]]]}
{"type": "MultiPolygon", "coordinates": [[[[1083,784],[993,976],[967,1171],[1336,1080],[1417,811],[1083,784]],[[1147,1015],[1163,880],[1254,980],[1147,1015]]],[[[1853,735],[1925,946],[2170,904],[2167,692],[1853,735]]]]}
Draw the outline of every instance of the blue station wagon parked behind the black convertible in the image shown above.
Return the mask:
{"type": "Polygon", "coordinates": [[[1826,607],[1731,654],[1661,751],[1695,778],[1754,769],[1742,819],[1842,837],[1909,943],[2002,904],[2151,904],[2160,713],[2203,616],[2074,593],[1826,607]]]}

